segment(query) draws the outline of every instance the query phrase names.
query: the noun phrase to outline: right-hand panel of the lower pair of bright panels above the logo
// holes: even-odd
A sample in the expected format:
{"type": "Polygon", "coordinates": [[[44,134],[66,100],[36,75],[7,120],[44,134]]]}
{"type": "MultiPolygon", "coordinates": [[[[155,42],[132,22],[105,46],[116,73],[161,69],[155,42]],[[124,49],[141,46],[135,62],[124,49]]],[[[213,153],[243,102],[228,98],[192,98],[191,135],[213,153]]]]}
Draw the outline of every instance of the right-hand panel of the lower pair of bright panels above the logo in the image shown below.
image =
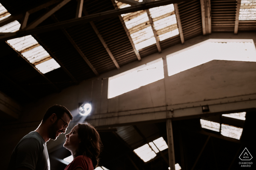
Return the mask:
{"type": "Polygon", "coordinates": [[[240,139],[243,129],[240,127],[221,124],[221,134],[225,137],[240,139]]]}

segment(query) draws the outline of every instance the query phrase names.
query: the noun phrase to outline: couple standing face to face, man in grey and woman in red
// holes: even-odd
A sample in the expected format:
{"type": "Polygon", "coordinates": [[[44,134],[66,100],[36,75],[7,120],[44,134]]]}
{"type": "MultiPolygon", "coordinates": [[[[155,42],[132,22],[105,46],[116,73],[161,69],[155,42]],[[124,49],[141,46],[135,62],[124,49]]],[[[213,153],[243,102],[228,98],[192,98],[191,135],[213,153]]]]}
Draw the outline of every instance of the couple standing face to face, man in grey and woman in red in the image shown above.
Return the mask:
{"type": "MultiPolygon", "coordinates": [[[[23,137],[14,148],[8,170],[50,170],[46,142],[65,133],[72,119],[64,106],[55,104],[49,107],[37,130],[23,137]]],[[[90,123],[78,123],[65,136],[63,146],[74,157],[65,170],[93,170],[97,167],[102,144],[97,130],[90,123]]]]}

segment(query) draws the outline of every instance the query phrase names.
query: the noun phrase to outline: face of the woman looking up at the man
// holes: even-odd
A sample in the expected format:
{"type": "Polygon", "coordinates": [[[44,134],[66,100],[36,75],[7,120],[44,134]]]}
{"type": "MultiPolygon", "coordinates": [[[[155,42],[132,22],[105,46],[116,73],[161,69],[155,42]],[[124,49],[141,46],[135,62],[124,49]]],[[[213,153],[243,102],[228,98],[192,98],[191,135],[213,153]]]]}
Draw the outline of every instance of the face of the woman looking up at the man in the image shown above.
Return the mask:
{"type": "Polygon", "coordinates": [[[80,143],[80,139],[78,138],[78,125],[74,126],[69,134],[66,135],[66,141],[64,143],[64,147],[69,151],[75,152],[80,143]]]}

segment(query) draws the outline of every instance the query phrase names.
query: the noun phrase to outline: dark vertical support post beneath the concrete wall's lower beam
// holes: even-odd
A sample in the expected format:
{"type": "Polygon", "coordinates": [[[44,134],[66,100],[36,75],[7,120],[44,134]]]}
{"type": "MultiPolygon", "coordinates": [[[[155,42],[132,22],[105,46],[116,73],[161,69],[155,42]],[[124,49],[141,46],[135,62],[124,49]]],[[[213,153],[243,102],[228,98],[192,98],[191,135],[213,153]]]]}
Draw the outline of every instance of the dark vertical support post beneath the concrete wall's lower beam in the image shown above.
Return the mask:
{"type": "Polygon", "coordinates": [[[173,145],[173,128],[172,120],[166,120],[167,130],[167,143],[168,143],[168,154],[169,154],[169,166],[170,170],[175,170],[175,156],[174,156],[174,145],[173,145]]]}

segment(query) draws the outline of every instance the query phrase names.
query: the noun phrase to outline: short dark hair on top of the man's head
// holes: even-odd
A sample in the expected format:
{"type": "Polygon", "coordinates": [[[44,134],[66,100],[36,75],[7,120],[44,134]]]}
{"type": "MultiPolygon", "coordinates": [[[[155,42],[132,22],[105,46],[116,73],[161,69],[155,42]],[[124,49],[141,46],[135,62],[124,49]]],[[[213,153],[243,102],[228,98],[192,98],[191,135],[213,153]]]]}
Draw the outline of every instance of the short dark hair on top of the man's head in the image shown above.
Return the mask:
{"type": "Polygon", "coordinates": [[[73,119],[71,112],[66,107],[61,106],[59,104],[54,104],[46,110],[42,122],[45,122],[54,113],[56,114],[58,119],[61,118],[64,115],[64,113],[68,114],[70,120],[73,119]]]}

